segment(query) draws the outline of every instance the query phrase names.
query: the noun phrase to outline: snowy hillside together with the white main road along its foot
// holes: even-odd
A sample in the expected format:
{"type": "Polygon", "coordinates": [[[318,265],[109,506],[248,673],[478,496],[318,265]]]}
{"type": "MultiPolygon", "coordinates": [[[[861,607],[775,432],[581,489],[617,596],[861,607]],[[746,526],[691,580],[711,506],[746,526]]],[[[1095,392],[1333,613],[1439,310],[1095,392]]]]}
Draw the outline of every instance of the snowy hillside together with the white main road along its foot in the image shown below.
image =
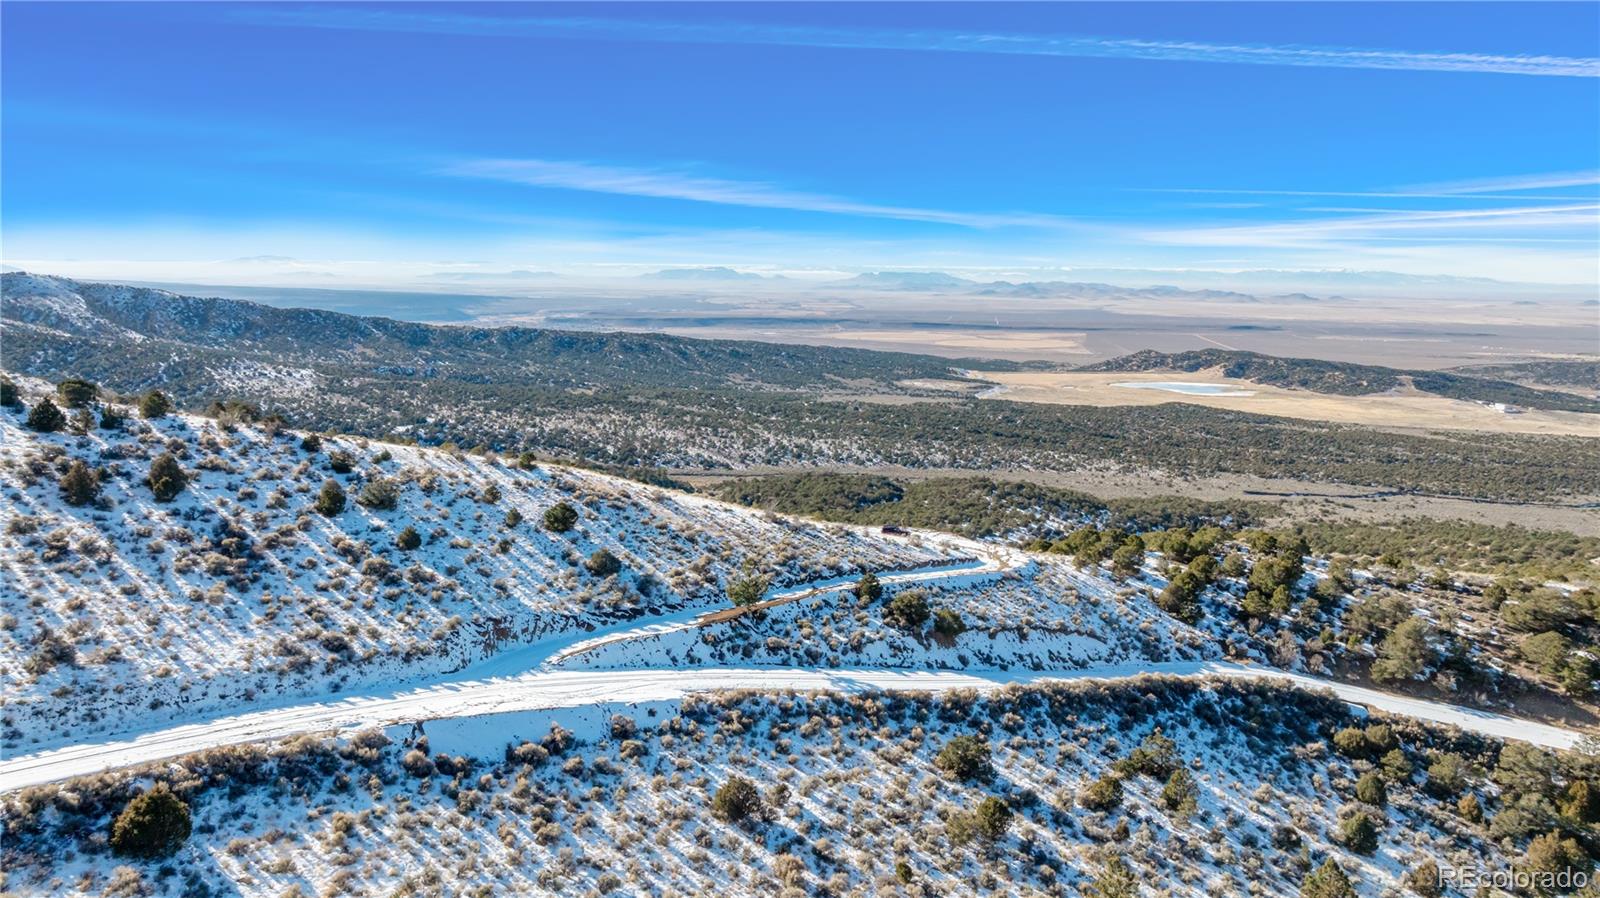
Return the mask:
{"type": "Polygon", "coordinates": [[[949,535],[778,520],[587,471],[522,471],[438,450],[334,437],[307,450],[299,434],[205,418],[37,435],[0,413],[0,437],[11,512],[5,789],[406,719],[741,687],[989,688],[1142,671],[1291,677],[1498,738],[1558,748],[1579,738],[1218,664],[1202,634],[1139,591],[949,535]],[[192,472],[173,503],[155,503],[139,482],[157,451],[192,472]],[[338,453],[354,461],[349,472],[328,469],[338,453]],[[96,504],[58,495],[69,459],[107,472],[96,504]],[[350,501],[325,517],[306,507],[325,479],[347,483],[352,498],[389,480],[400,499],[392,511],[350,501]],[[582,509],[571,533],[538,527],[558,501],[582,509]],[[507,523],[514,509],[523,520],[507,523]],[[427,520],[438,522],[427,543],[394,546],[406,522],[427,520]],[[597,549],[622,570],[587,573],[582,560],[597,549]],[[723,583],[752,559],[787,586],[755,613],[718,610],[723,583]],[[882,576],[877,603],[850,591],[862,570],[882,576]],[[885,624],[882,608],[907,589],[957,610],[968,629],[942,639],[885,624]],[[37,663],[62,642],[67,656],[37,663]],[[24,746],[32,751],[19,757],[24,746]]]}

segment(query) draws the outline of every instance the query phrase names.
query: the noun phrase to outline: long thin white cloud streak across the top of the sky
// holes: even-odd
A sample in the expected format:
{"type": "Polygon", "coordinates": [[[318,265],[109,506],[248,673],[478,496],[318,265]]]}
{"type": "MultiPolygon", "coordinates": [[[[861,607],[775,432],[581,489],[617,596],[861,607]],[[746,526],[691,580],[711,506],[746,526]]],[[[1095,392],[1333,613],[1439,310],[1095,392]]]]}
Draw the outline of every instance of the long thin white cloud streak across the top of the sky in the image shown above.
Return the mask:
{"type": "Polygon", "coordinates": [[[235,10],[256,22],[323,29],[467,34],[485,37],[538,35],[557,38],[642,40],[661,43],[742,43],[819,46],[840,50],[910,50],[1226,62],[1245,66],[1302,66],[1318,69],[1389,69],[1406,72],[1470,72],[1499,75],[1600,77],[1600,59],[1573,56],[1504,56],[1490,53],[1422,53],[1362,46],[1302,46],[1136,40],[1093,35],[986,34],[955,30],[885,30],[794,27],[750,22],[672,22],[646,19],[483,16],[459,11],[411,11],[352,6],[235,10]]]}

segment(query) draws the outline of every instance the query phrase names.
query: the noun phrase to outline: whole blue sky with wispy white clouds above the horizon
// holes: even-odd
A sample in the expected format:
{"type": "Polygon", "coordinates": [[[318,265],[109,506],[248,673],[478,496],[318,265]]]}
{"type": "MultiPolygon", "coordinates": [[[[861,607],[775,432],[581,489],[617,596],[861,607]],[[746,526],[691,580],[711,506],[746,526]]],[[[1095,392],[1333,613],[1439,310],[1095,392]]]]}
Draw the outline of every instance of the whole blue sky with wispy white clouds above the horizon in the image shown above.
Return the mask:
{"type": "Polygon", "coordinates": [[[1597,10],[8,2],[3,255],[1589,283],[1597,10]]]}

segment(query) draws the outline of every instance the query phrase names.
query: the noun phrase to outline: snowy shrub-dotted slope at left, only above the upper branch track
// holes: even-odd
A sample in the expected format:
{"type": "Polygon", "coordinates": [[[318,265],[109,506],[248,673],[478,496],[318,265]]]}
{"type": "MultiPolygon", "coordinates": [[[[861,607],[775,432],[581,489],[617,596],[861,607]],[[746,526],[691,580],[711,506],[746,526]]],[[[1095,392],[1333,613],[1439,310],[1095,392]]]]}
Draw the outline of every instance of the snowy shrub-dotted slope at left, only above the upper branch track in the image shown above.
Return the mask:
{"type": "Polygon", "coordinates": [[[123,413],[120,429],[35,434],[0,410],[6,746],[453,671],[725,605],[746,568],[782,586],[949,560],[581,469],[123,413]],[[146,480],[166,453],[189,483],[162,503],[146,480]],[[82,506],[59,485],[75,463],[98,477],[82,506]],[[346,495],[331,515],[315,511],[326,482],[346,495]],[[571,531],[541,523],[558,503],[571,531]],[[614,573],[590,563],[602,551],[614,573]]]}

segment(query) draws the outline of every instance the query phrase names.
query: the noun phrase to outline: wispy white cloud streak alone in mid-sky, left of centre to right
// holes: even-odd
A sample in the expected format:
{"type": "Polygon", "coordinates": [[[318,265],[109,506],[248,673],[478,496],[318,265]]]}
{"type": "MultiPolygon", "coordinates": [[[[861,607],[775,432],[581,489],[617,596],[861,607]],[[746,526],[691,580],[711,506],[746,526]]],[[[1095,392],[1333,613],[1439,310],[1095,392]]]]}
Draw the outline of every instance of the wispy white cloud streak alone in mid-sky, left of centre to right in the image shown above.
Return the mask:
{"type": "Polygon", "coordinates": [[[960,227],[1061,227],[1067,219],[1034,213],[968,213],[930,210],[915,206],[891,206],[862,203],[826,194],[790,190],[762,181],[731,181],[704,178],[662,168],[624,168],[592,165],[587,162],[557,162],[544,158],[480,158],[458,162],[442,170],[461,178],[486,178],[533,187],[560,187],[594,194],[619,194],[627,197],[658,197],[717,203],[728,206],[776,208],[853,214],[867,218],[896,218],[902,221],[931,221],[960,227]]]}

